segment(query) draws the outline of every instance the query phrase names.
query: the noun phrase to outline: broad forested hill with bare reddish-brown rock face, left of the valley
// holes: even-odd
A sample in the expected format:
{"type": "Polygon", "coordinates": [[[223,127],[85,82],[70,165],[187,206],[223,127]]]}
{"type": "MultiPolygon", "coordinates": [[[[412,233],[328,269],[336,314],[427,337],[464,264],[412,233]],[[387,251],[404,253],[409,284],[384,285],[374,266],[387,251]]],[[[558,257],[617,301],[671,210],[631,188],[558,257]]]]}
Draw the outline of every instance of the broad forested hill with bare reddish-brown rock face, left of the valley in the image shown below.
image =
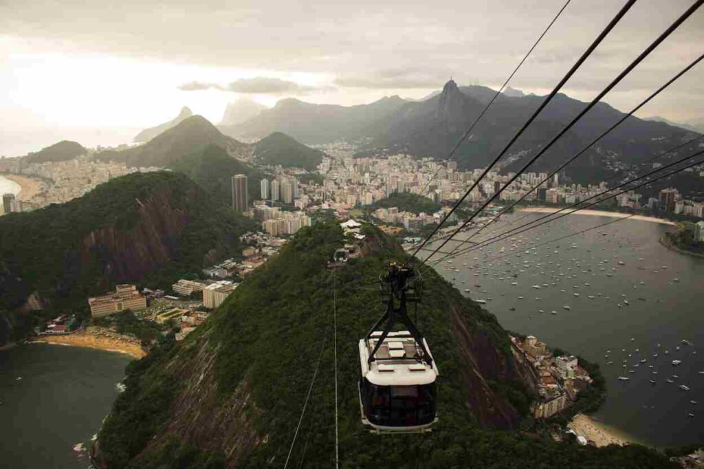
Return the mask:
{"type": "Polygon", "coordinates": [[[180,173],[117,177],[65,204],[0,218],[0,312],[74,311],[115,283],[171,282],[238,252],[252,227],[180,173]]]}

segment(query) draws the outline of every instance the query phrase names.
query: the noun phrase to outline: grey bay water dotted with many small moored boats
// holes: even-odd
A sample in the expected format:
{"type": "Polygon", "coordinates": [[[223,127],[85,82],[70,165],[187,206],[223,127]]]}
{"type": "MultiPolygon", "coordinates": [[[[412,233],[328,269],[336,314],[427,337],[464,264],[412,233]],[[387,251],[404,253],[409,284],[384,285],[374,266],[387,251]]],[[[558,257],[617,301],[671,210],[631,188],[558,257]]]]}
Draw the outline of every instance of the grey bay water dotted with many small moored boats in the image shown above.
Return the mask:
{"type": "MultiPolygon", "coordinates": [[[[504,217],[501,224],[484,232],[505,229],[524,215],[504,217]]],[[[539,216],[528,215],[516,225],[539,216]]],[[[485,299],[484,308],[505,329],[534,335],[550,347],[598,363],[607,380],[608,397],[593,415],[597,420],[650,446],[701,442],[704,259],[666,249],[658,237],[668,228],[637,220],[619,221],[532,249],[610,220],[570,215],[515,235],[513,242],[506,239],[453,263],[443,262],[437,270],[465,295],[485,299]],[[499,253],[502,246],[504,252],[499,253]],[[681,364],[673,366],[675,359],[681,364]],[[629,380],[617,380],[624,373],[629,380]],[[680,389],[680,384],[689,391],[680,389]]],[[[484,232],[477,239],[484,239],[484,232]]]]}

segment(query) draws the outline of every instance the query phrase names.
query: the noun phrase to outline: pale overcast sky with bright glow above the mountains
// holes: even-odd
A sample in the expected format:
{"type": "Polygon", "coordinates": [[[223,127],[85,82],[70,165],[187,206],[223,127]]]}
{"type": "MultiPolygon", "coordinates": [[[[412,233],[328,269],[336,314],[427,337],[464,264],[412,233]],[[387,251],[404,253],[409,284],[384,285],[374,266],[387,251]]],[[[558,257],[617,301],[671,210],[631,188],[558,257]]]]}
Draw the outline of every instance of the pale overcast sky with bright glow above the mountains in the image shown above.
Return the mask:
{"type": "MultiPolygon", "coordinates": [[[[572,0],[510,83],[546,93],[625,0],[572,0]]],[[[588,100],[693,0],[640,0],[567,84],[588,100]]],[[[142,127],[181,106],[218,122],[251,96],[360,104],[453,77],[498,87],[564,0],[0,0],[0,119],[142,127]]],[[[624,111],[704,52],[704,8],[605,101],[624,111]]],[[[640,115],[704,115],[698,65],[640,115]]],[[[1,151],[0,151],[1,153],[1,151]]]]}

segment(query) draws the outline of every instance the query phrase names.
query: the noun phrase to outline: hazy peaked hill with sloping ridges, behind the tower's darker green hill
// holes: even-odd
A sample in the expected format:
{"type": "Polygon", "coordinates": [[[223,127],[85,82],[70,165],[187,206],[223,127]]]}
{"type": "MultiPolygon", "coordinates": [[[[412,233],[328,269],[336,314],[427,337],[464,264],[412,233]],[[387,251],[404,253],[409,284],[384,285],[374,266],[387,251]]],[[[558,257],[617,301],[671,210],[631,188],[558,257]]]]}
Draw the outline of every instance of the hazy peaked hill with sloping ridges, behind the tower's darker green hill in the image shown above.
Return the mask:
{"type": "Polygon", "coordinates": [[[185,155],[218,145],[231,156],[249,157],[251,146],[222,135],[215,125],[201,115],[182,120],[142,146],[122,151],[101,151],[96,158],[103,161],[124,161],[127,166],[168,167],[185,155]]]}

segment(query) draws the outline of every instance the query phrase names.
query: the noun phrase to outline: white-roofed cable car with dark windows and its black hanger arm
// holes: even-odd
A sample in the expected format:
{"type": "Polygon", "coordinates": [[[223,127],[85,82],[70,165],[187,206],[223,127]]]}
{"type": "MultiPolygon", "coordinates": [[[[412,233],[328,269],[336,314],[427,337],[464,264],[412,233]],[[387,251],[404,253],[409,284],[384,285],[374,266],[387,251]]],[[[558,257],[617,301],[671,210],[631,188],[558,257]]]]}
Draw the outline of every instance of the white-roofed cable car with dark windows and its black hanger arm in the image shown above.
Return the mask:
{"type": "Polygon", "coordinates": [[[362,423],[372,432],[428,432],[438,420],[439,371],[407,311],[408,303],[420,301],[420,281],[414,270],[391,264],[380,286],[386,312],[359,341],[362,423]],[[392,330],[396,323],[407,330],[392,330]]]}

